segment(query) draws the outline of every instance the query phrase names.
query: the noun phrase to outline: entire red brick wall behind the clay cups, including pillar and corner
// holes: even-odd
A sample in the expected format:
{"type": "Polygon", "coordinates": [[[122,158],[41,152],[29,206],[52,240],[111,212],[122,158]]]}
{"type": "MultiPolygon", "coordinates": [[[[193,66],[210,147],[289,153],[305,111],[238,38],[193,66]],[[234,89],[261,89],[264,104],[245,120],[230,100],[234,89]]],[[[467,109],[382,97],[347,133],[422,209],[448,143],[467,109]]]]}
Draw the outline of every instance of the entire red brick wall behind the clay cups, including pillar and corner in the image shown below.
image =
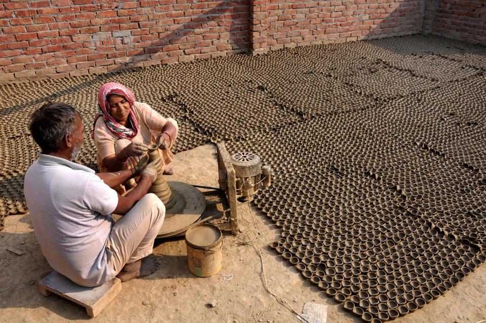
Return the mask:
{"type": "Polygon", "coordinates": [[[0,84],[434,32],[486,44],[486,0],[0,0],[0,84]]]}

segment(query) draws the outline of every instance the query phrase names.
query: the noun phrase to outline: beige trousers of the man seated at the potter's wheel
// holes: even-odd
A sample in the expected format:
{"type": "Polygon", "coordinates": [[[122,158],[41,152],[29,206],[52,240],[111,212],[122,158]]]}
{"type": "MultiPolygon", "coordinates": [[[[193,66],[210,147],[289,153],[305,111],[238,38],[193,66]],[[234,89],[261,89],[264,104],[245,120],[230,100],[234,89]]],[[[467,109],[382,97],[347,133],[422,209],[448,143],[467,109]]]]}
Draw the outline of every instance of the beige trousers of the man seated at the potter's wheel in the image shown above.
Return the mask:
{"type": "Polygon", "coordinates": [[[113,225],[107,248],[112,252],[108,265],[118,274],[125,264],[152,253],[153,241],[164,222],[166,207],[152,193],[146,194],[113,225]]]}

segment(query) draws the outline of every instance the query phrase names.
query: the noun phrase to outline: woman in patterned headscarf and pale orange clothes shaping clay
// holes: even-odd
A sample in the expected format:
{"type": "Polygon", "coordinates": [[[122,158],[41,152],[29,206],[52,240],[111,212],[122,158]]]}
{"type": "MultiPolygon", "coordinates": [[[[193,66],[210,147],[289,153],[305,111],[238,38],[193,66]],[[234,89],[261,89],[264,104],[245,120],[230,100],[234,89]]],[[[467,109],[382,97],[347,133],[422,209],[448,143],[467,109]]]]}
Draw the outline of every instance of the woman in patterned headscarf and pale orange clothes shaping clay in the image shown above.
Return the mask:
{"type": "MultiPolygon", "coordinates": [[[[164,174],[173,173],[170,148],[179,128],[176,120],[165,118],[148,104],[135,101],[132,91],[118,83],[106,83],[98,92],[99,113],[95,117],[93,133],[98,149],[99,172],[116,172],[135,167],[147,152],[147,146],[156,144],[164,160],[164,174]],[[100,117],[101,116],[101,117],[100,117]]],[[[123,194],[132,188],[132,179],[115,189],[123,194]]]]}

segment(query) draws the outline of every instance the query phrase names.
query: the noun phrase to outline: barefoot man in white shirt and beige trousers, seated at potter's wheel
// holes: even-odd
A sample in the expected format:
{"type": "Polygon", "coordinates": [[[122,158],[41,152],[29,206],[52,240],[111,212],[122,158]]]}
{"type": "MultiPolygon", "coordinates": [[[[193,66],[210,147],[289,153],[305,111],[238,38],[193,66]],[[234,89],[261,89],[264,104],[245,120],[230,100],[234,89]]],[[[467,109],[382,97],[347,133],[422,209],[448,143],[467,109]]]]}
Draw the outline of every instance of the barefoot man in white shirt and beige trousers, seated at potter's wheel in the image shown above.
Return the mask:
{"type": "Polygon", "coordinates": [[[79,113],[70,105],[48,103],[36,110],[30,132],[41,147],[27,170],[24,194],[35,235],[51,267],[82,286],[98,286],[153,273],[160,266],[153,242],[165,207],[147,194],[161,160],[143,158],[133,169],[97,173],[73,163],[84,141],[79,113]],[[140,176],[126,196],[112,187],[140,176]],[[111,213],[123,215],[116,223],[111,213]]]}

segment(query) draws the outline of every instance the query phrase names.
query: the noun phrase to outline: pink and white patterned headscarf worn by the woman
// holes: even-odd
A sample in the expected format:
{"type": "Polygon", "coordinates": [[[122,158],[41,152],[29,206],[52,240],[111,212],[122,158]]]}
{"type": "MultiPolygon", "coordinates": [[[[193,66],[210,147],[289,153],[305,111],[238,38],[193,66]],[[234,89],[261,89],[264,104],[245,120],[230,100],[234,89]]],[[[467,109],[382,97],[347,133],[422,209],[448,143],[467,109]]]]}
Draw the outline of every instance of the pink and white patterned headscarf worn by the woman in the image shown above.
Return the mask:
{"type": "Polygon", "coordinates": [[[93,123],[93,132],[91,133],[91,138],[94,139],[96,120],[98,120],[100,116],[103,116],[106,127],[108,127],[108,129],[111,130],[111,132],[115,134],[118,138],[133,139],[135,136],[137,136],[140,128],[138,125],[137,116],[135,115],[135,111],[133,110],[134,103],[135,96],[133,95],[132,91],[127,89],[125,86],[115,82],[105,83],[98,92],[99,110],[98,114],[95,116],[95,122],[93,123]],[[110,94],[118,94],[124,96],[125,99],[127,99],[127,101],[130,103],[131,110],[129,114],[129,120],[132,125],[132,129],[120,125],[109,113],[110,104],[108,103],[108,96],[110,94]]]}

